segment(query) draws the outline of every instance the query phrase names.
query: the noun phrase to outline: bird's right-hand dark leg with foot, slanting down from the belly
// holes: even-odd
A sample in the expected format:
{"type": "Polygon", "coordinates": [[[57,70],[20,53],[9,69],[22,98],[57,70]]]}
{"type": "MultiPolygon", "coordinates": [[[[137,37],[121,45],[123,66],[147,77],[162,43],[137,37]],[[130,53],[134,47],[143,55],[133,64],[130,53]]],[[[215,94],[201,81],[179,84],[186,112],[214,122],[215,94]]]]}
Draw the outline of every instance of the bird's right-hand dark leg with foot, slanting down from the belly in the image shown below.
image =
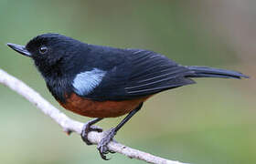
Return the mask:
{"type": "Polygon", "coordinates": [[[133,117],[133,115],[139,111],[141,108],[143,107],[143,103],[141,103],[137,108],[134,108],[125,118],[123,118],[123,120],[115,127],[115,128],[111,128],[105,135],[104,138],[101,138],[101,142],[98,144],[98,150],[100,151],[101,154],[101,158],[108,160],[106,158],[106,154],[108,154],[109,152],[113,153],[112,151],[110,151],[108,149],[108,144],[110,143],[110,141],[112,141],[112,138],[116,135],[116,132],[123,127],[123,125],[130,119],[133,117]]]}

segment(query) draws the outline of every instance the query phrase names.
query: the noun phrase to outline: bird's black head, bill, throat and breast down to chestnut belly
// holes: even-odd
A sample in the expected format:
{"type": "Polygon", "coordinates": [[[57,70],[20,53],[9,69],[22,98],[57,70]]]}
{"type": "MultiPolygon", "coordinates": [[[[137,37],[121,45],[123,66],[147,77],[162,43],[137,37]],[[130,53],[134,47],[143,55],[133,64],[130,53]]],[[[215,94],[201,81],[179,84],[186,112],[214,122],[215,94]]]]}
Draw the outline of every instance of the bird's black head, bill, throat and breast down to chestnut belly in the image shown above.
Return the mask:
{"type": "Polygon", "coordinates": [[[85,63],[83,55],[89,50],[88,44],[59,34],[36,36],[26,46],[10,43],[7,46],[34,60],[49,91],[61,102],[71,92],[72,78],[83,66],[81,63],[85,63]]]}

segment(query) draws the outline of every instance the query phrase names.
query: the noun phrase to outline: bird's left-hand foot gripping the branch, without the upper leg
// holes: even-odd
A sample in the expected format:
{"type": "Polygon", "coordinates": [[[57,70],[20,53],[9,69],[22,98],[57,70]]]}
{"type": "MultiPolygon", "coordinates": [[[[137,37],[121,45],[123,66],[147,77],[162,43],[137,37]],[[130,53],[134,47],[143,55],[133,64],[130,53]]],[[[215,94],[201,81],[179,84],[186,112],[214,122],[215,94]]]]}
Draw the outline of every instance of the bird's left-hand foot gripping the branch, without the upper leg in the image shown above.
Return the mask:
{"type": "Polygon", "coordinates": [[[87,144],[87,145],[92,145],[91,141],[88,139],[88,134],[91,131],[97,131],[97,132],[102,132],[102,128],[96,128],[91,125],[91,121],[87,122],[84,124],[81,130],[80,137],[81,139],[87,144]]]}

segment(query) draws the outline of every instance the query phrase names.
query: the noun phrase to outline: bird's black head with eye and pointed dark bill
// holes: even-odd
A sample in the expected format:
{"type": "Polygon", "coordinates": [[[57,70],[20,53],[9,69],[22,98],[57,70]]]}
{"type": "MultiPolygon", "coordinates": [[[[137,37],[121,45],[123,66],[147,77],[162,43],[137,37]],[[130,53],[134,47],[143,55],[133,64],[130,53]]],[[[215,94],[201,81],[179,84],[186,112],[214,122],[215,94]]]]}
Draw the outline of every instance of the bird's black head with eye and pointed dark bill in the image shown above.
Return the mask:
{"type": "Polygon", "coordinates": [[[16,52],[31,57],[44,77],[59,76],[67,73],[72,59],[78,56],[81,49],[85,51],[87,44],[68,36],[59,34],[43,34],[31,39],[26,46],[7,44],[16,52]],[[57,75],[56,75],[57,74],[57,75]]]}

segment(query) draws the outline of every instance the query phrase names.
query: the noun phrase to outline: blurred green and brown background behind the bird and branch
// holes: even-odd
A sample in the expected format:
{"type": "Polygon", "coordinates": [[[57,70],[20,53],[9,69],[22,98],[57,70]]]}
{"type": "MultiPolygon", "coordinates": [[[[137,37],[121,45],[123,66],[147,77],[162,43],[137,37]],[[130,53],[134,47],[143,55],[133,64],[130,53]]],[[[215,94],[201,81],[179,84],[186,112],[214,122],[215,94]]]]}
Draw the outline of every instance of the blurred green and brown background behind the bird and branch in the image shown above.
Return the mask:
{"type": "MultiPolygon", "coordinates": [[[[255,7],[254,0],[0,0],[0,68],[58,108],[32,61],[7,42],[25,45],[53,32],[90,44],[154,50],[183,65],[240,70],[251,79],[197,79],[197,85],[152,97],[116,139],[194,164],[255,163],[255,7]]],[[[95,146],[84,145],[78,135],[68,137],[1,85],[0,113],[0,163],[144,163],[119,154],[102,161],[95,146]]],[[[121,119],[99,125],[111,128],[121,119]]]]}

